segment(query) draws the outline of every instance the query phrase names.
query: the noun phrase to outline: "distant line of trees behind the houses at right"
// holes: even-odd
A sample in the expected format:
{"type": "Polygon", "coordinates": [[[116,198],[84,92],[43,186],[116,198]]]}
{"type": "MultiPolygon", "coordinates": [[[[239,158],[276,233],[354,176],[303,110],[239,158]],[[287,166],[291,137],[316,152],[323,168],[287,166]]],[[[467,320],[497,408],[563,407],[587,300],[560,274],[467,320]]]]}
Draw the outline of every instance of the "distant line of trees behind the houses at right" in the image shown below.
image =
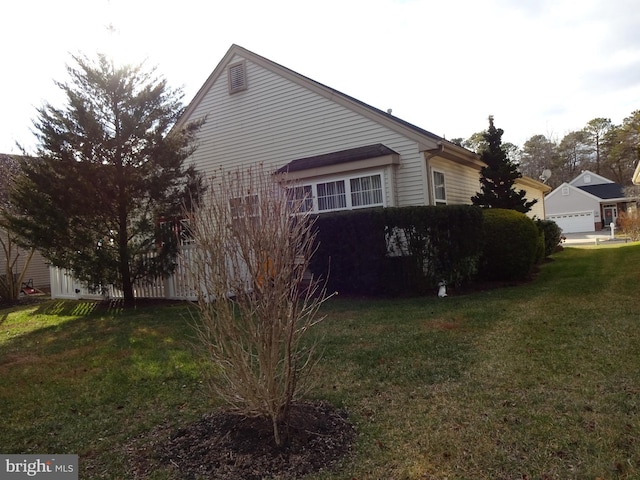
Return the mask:
{"type": "MultiPolygon", "coordinates": [[[[480,153],[485,147],[484,134],[479,132],[452,142],[480,153]]],[[[572,180],[582,170],[630,187],[640,158],[639,145],[640,110],[636,110],[620,125],[609,118],[594,118],[560,140],[538,134],[524,142],[522,148],[508,142],[502,148],[522,175],[537,179],[543,170],[550,169],[552,176],[547,184],[552,188],[572,180]]]]}

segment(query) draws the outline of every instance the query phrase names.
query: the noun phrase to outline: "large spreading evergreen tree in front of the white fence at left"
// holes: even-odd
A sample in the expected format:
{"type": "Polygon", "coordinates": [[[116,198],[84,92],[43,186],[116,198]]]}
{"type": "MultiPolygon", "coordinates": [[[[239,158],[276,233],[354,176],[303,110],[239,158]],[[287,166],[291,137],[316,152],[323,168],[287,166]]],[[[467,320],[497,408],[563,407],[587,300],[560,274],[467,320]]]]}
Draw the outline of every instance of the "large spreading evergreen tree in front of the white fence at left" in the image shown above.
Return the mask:
{"type": "Polygon", "coordinates": [[[9,226],[53,265],[92,286],[115,284],[131,304],[135,280],[175,265],[179,242],[160,220],[197,196],[200,175],[184,163],[202,122],[172,130],[183,94],[155,69],[73,59],[70,80],[56,82],[65,107],[38,109],[37,155],[21,162],[9,226]]]}

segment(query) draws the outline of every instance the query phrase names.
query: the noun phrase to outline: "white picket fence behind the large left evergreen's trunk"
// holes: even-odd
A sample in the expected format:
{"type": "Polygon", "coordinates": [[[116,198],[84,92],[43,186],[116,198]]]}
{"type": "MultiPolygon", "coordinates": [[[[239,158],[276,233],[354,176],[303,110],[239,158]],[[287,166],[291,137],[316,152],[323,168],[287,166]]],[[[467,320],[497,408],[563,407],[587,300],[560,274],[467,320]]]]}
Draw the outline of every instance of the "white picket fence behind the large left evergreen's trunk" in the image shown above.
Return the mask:
{"type": "MultiPolygon", "coordinates": [[[[169,300],[196,300],[196,288],[188,271],[188,264],[195,249],[190,245],[182,247],[177,258],[173,275],[137,280],[133,286],[136,298],[166,298],[169,300]]],[[[113,285],[105,285],[101,291],[94,291],[73,276],[73,272],[63,268],[50,267],[51,298],[74,300],[104,300],[122,298],[122,291],[113,285]]]]}

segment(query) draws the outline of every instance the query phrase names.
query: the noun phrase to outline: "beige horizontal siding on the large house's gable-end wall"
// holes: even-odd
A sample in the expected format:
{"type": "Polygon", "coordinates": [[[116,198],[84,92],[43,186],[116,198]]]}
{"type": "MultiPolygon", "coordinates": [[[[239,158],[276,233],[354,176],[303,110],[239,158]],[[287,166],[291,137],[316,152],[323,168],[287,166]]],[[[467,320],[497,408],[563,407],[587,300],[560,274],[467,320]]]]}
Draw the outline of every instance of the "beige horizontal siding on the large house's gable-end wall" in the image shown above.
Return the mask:
{"type": "MultiPolygon", "coordinates": [[[[387,200],[426,203],[424,160],[415,141],[249,60],[246,66],[247,90],[229,95],[224,72],[191,114],[192,120],[207,117],[192,156],[197,168],[212,173],[256,162],[278,168],[297,158],[383,143],[400,154],[387,200]]],[[[385,172],[387,182],[393,177],[385,172]]]]}

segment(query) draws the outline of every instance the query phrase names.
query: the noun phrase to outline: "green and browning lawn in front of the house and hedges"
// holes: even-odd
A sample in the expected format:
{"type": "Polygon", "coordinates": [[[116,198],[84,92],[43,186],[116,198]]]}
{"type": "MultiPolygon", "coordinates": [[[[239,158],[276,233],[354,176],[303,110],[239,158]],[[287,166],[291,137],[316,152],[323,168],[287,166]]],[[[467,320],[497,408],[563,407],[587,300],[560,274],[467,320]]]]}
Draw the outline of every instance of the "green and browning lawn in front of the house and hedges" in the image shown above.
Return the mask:
{"type": "MultiPolygon", "coordinates": [[[[639,244],[566,248],[527,285],[332,299],[313,396],[358,439],[309,478],[640,478],[639,265],[639,244]]],[[[80,478],[133,478],[132,442],[217,406],[190,321],[180,305],[0,310],[0,452],[78,453],[80,478]]]]}

